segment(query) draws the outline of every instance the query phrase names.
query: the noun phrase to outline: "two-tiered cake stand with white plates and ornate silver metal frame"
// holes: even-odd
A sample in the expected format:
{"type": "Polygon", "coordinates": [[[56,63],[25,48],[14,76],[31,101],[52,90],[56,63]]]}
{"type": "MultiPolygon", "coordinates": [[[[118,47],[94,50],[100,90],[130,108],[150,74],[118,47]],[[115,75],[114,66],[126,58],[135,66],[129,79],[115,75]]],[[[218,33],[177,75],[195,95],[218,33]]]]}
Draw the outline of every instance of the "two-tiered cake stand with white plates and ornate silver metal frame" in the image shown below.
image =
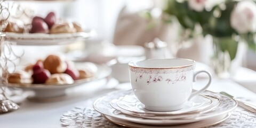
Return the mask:
{"type": "MultiPolygon", "coordinates": [[[[0,114],[6,113],[12,110],[16,110],[19,108],[14,102],[7,98],[6,89],[8,87],[12,88],[20,88],[22,90],[33,90],[35,92],[34,98],[53,98],[59,97],[61,95],[65,95],[65,90],[69,87],[74,87],[77,85],[82,85],[87,82],[95,81],[101,78],[106,78],[111,74],[111,69],[107,66],[96,65],[97,72],[92,78],[79,79],[75,81],[73,84],[10,84],[7,81],[7,76],[9,74],[9,70],[7,67],[7,63],[13,63],[10,60],[10,56],[14,56],[17,59],[20,59],[21,56],[15,54],[15,51],[12,50],[12,45],[27,45],[27,46],[42,46],[42,45],[62,45],[62,44],[70,44],[75,41],[85,41],[86,39],[90,39],[95,36],[94,30],[84,30],[79,33],[71,33],[71,34],[31,34],[31,33],[3,33],[3,29],[6,27],[5,22],[8,18],[12,17],[12,13],[10,13],[10,5],[9,1],[0,0],[0,6],[2,7],[2,11],[0,15],[2,15],[3,22],[0,26],[1,28],[1,42],[0,42],[0,59],[1,59],[1,94],[0,94],[0,114]],[[7,51],[4,51],[6,50],[7,51]],[[6,53],[8,55],[6,55],[6,53]]],[[[31,1],[34,2],[34,1],[31,1]]],[[[12,6],[13,7],[13,6],[12,6]]],[[[20,7],[20,6],[17,6],[20,7]]],[[[13,8],[12,8],[13,9],[13,8]]],[[[22,11],[21,9],[16,9],[22,11]]],[[[23,13],[23,12],[19,12],[23,13]]],[[[26,51],[25,51],[26,52],[26,51]]],[[[84,63],[79,63],[76,67],[83,67],[84,63]]],[[[14,65],[15,67],[15,65],[14,65]]]]}

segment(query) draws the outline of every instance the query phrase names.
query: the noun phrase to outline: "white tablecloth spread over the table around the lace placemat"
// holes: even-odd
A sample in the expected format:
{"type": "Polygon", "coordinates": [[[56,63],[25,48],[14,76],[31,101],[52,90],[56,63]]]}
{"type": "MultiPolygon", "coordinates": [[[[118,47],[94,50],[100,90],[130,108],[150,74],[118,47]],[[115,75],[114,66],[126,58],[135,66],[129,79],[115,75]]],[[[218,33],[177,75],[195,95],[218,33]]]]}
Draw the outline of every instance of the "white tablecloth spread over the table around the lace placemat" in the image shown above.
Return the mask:
{"type": "MultiPolygon", "coordinates": [[[[207,79],[198,79],[194,89],[199,89],[206,82],[207,79]]],[[[118,85],[115,79],[110,79],[106,85],[106,79],[102,79],[101,81],[71,88],[67,90],[66,97],[51,102],[25,100],[18,110],[0,115],[0,127],[61,127],[60,117],[62,114],[76,106],[84,105],[86,99],[129,87],[131,87],[129,83],[118,85]]],[[[250,99],[256,104],[256,94],[231,79],[213,79],[209,90],[214,92],[225,91],[236,97],[250,99]]]]}

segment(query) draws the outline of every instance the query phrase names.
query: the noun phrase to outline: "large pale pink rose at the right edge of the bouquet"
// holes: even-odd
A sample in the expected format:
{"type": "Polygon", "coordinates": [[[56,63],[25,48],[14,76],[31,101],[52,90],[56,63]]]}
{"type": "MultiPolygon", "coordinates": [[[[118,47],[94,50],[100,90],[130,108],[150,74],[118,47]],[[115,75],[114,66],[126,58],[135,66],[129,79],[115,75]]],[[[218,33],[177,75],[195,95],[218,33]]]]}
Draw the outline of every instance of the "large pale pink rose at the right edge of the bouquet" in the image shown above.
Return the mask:
{"type": "Polygon", "coordinates": [[[256,31],[256,4],[241,1],[230,15],[230,24],[239,34],[256,31]]]}

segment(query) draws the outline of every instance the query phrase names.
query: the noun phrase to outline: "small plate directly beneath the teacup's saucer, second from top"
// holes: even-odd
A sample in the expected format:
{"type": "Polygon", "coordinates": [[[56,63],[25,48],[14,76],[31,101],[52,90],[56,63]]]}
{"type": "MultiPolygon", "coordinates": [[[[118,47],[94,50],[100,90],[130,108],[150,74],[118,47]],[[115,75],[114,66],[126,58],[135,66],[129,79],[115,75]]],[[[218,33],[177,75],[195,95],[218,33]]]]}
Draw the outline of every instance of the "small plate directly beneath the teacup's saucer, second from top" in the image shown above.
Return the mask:
{"type": "Polygon", "coordinates": [[[116,110],[121,111],[123,114],[130,115],[130,116],[135,116],[135,117],[141,117],[141,118],[148,118],[148,119],[178,119],[178,118],[189,118],[196,116],[199,113],[207,113],[208,111],[213,110],[219,105],[219,99],[214,98],[214,97],[208,97],[209,99],[212,100],[212,103],[210,106],[204,108],[201,111],[197,111],[195,113],[185,113],[185,114],[177,114],[177,115],[154,115],[154,114],[139,114],[139,113],[133,113],[132,111],[122,109],[117,106],[117,99],[114,99],[110,102],[110,106],[113,107],[116,110]]]}

